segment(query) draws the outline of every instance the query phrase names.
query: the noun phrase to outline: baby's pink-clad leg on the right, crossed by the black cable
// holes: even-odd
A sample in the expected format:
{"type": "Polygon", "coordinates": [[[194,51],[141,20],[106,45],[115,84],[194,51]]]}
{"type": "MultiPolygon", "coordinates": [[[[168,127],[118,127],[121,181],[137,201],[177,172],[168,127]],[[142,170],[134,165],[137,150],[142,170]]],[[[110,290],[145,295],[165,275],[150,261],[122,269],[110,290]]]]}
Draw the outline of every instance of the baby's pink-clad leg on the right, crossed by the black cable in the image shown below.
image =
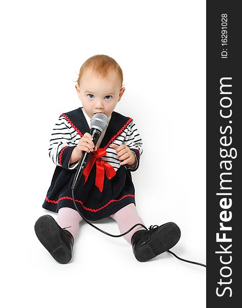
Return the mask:
{"type": "MultiPolygon", "coordinates": [[[[142,223],[143,225],[145,225],[143,220],[138,216],[134,203],[130,203],[122,209],[119,209],[110,217],[116,220],[116,222],[118,223],[118,228],[121,234],[128,231],[136,223],[142,223]]],[[[145,228],[142,226],[136,226],[129,233],[124,235],[124,238],[131,244],[132,235],[136,231],[143,229],[145,228]]]]}

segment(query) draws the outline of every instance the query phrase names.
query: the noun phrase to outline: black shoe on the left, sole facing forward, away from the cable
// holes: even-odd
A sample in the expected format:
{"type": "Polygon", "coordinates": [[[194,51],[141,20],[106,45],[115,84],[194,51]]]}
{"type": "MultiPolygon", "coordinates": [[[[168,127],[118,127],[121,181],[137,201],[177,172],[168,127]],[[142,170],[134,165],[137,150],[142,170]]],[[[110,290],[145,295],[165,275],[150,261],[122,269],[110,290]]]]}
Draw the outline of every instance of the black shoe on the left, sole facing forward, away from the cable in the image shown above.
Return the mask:
{"type": "Polygon", "coordinates": [[[39,241],[57,262],[66,264],[71,260],[74,238],[68,230],[61,228],[52,216],[39,217],[34,230],[39,241]]]}

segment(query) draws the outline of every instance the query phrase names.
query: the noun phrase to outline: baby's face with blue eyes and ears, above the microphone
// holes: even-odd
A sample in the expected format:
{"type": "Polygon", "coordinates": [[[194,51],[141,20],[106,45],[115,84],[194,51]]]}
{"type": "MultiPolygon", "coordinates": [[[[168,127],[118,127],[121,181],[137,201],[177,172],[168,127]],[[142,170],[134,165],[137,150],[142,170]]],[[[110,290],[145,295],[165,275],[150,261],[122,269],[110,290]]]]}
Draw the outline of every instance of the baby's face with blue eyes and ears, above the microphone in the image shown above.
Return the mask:
{"type": "Polygon", "coordinates": [[[109,117],[120,101],[125,88],[120,88],[120,78],[115,71],[110,71],[107,78],[101,78],[87,69],[80,80],[80,85],[75,85],[83,107],[92,118],[96,112],[102,112],[109,117]]]}

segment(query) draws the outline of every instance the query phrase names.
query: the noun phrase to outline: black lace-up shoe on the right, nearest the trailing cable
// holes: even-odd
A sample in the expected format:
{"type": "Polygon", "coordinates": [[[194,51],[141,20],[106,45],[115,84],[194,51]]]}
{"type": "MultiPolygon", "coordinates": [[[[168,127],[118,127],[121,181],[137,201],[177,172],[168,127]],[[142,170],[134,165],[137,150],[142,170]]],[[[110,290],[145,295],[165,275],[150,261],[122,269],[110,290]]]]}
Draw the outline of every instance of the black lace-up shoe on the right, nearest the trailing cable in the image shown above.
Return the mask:
{"type": "Polygon", "coordinates": [[[135,258],[145,262],[167,252],[179,239],[179,227],[174,222],[167,222],[161,226],[150,226],[149,230],[138,230],[133,234],[131,244],[135,258]]]}

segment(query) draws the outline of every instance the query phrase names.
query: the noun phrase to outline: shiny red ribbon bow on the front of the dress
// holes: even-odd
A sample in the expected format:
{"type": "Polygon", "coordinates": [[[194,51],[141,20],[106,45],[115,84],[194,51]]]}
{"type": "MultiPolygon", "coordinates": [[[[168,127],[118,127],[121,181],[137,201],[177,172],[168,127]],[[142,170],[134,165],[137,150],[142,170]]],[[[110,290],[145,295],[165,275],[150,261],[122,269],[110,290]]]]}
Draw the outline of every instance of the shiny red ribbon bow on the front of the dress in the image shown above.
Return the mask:
{"type": "Polygon", "coordinates": [[[86,168],[83,171],[83,175],[85,177],[84,184],[86,183],[86,181],[88,179],[88,176],[90,174],[90,171],[91,171],[94,163],[96,162],[96,180],[95,180],[95,185],[100,190],[100,192],[102,192],[103,191],[103,187],[104,187],[104,174],[105,174],[105,170],[106,170],[107,178],[109,180],[112,179],[116,175],[116,171],[114,170],[114,168],[109,163],[107,163],[106,161],[104,161],[101,158],[103,156],[106,156],[106,154],[107,154],[105,148],[98,148],[96,151],[93,151],[92,154],[93,155],[91,155],[91,157],[90,157],[90,159],[88,161],[88,164],[87,164],[86,168]]]}

